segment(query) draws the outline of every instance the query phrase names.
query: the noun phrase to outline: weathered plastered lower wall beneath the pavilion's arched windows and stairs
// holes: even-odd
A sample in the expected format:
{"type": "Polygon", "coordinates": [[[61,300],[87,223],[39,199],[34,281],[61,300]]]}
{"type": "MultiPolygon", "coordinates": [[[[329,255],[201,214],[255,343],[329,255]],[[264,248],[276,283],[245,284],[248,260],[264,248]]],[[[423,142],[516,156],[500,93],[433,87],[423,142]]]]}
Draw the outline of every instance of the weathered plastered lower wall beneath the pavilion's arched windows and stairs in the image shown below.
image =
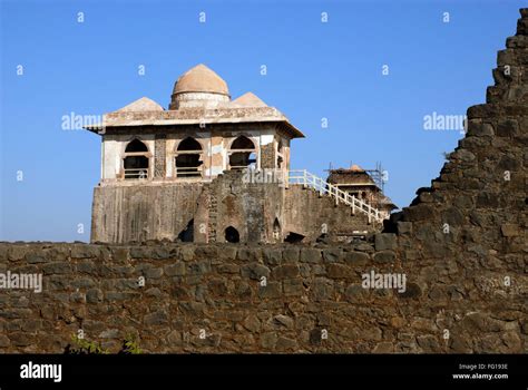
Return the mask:
{"type": "Polygon", "coordinates": [[[146,183],[96,187],[94,193],[94,243],[144,243],[178,241],[190,227],[198,243],[225,242],[232,226],[241,242],[282,242],[290,232],[315,241],[323,233],[338,236],[353,231],[380,231],[365,214],[311,188],[291,185],[284,177],[226,170],[211,183],[146,183]],[[274,237],[275,220],[280,225],[274,237]],[[193,221],[193,226],[189,226],[193,221]]]}

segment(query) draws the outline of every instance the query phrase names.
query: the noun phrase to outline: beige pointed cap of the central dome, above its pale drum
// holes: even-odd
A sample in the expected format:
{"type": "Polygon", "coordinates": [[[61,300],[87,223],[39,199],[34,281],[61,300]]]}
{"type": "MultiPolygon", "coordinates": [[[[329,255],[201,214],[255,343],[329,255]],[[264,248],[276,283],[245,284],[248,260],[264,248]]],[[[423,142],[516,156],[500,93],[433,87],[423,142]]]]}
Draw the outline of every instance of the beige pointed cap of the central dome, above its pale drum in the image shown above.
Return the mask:
{"type": "Polygon", "coordinates": [[[173,94],[207,92],[229,96],[227,84],[213,70],[201,64],[183,74],[173,94]]]}

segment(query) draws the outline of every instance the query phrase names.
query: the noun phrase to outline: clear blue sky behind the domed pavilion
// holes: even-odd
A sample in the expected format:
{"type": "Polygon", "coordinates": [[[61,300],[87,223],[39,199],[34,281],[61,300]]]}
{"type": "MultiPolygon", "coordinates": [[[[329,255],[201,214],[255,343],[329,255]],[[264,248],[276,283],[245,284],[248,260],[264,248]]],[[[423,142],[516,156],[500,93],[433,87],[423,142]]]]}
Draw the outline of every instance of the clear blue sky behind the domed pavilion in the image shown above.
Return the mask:
{"type": "Polygon", "coordinates": [[[438,176],[442,153],[461,138],[458,130],[424,130],[424,116],[465,115],[485,101],[497,50],[527,6],[526,0],[0,3],[3,241],[89,241],[100,138],[63,130],[62,117],[108,113],[143,96],[167,108],[177,77],[201,62],[227,81],[233,98],[251,90],[305,133],[293,142],[292,168],[324,176],[330,163],[370,168],[381,162],[389,173],[385,193],[405,206],[438,176]]]}

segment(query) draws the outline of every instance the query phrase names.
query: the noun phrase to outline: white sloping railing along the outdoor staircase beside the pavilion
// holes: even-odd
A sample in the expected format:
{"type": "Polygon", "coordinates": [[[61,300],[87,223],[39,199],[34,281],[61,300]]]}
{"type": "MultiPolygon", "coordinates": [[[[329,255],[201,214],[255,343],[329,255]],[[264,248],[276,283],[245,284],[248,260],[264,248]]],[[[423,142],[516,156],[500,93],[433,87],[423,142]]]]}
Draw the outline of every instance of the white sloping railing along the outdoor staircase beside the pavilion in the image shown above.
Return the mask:
{"type": "Polygon", "coordinates": [[[378,223],[381,223],[384,220],[383,213],[381,213],[378,208],[374,208],[370,204],[356,198],[355,196],[339,189],[338,186],[323,181],[321,177],[311,174],[306,169],[289,170],[286,183],[311,187],[319,192],[321,196],[327,194],[335,199],[336,204],[341,202],[352,207],[352,214],[355,214],[356,211],[366,214],[369,217],[369,223],[371,223],[372,220],[378,223]]]}

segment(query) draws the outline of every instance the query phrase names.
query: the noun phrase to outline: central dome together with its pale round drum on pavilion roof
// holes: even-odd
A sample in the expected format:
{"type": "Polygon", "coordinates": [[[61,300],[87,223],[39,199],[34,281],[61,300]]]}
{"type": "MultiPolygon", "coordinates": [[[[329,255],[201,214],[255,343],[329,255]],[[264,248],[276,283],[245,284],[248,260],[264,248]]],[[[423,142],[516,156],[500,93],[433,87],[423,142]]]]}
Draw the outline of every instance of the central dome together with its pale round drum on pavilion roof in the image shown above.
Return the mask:
{"type": "Polygon", "coordinates": [[[201,64],[183,74],[174,85],[169,109],[217,107],[229,103],[227,84],[201,64]]]}

